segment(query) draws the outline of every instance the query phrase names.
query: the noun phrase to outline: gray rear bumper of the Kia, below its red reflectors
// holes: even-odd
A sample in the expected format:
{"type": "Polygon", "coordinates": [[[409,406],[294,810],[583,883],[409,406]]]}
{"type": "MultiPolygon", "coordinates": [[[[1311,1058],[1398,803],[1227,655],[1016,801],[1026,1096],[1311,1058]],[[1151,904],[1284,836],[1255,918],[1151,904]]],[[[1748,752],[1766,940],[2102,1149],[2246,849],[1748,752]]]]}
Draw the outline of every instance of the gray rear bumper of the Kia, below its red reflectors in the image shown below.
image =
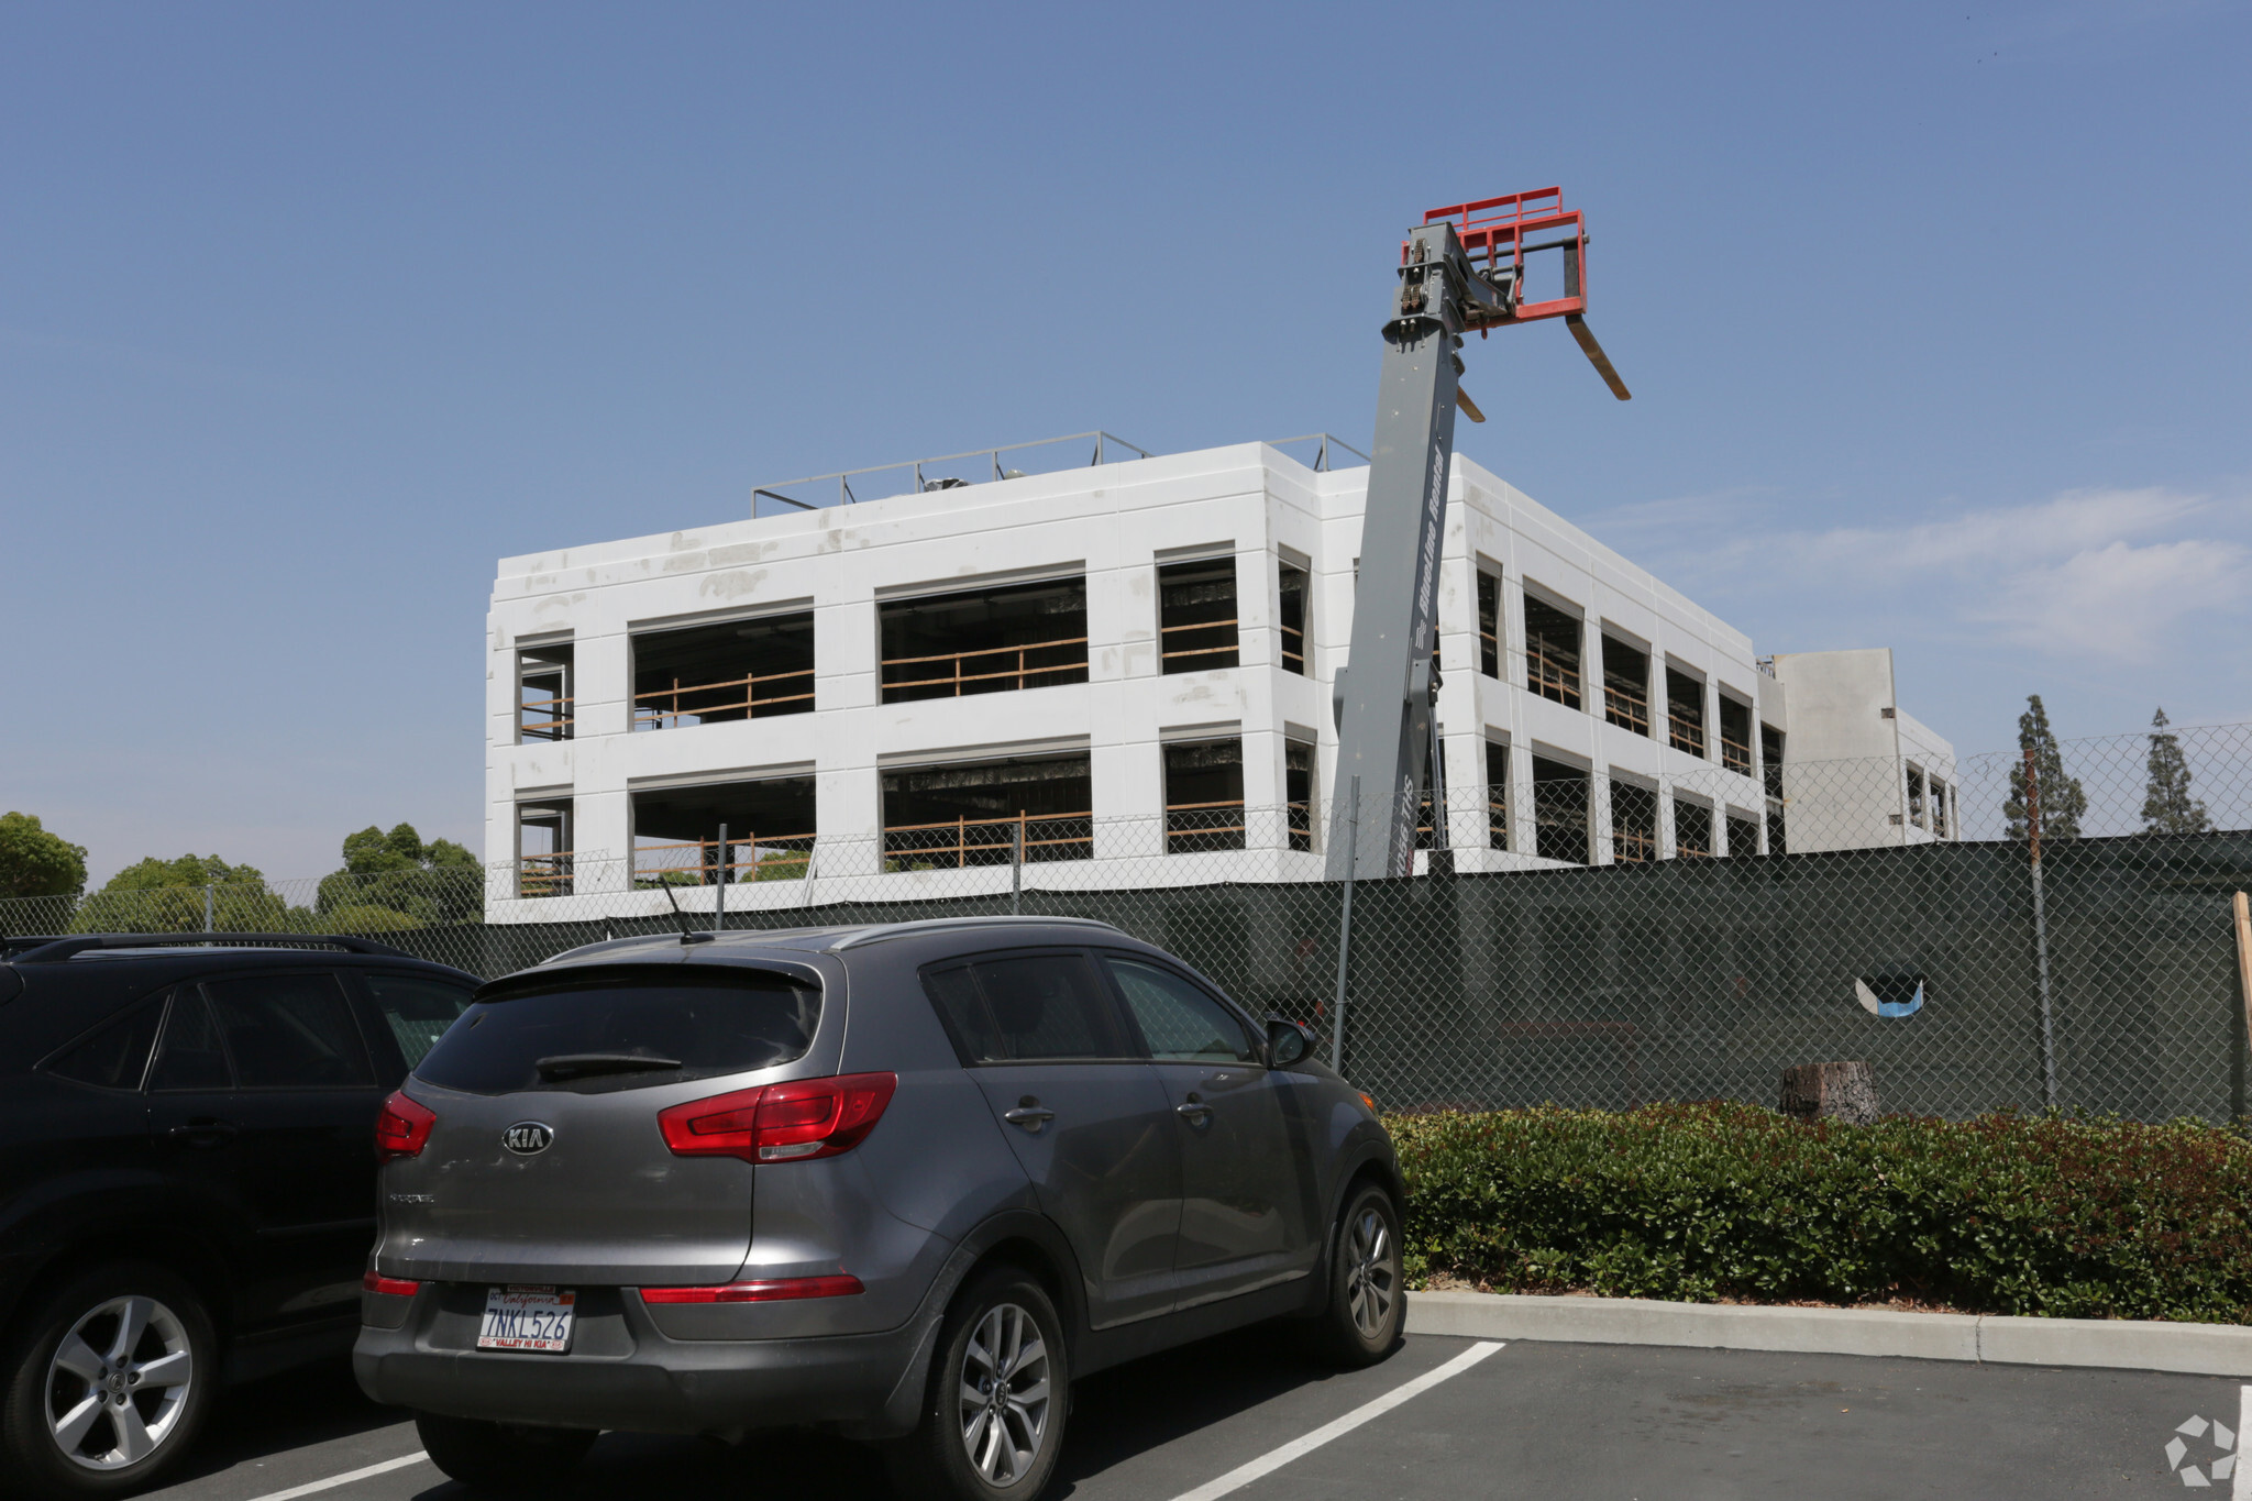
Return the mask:
{"type": "MultiPolygon", "coordinates": [[[[637,1296],[574,1334],[572,1355],[457,1348],[455,1321],[426,1285],[401,1328],[363,1323],[351,1370],[376,1402],[450,1418],[640,1433],[739,1433],[829,1427],[894,1438],[921,1406],[923,1350],[937,1314],[881,1334],[817,1339],[669,1339],[637,1296]]],[[[588,1312],[595,1312],[592,1307],[588,1312]]]]}

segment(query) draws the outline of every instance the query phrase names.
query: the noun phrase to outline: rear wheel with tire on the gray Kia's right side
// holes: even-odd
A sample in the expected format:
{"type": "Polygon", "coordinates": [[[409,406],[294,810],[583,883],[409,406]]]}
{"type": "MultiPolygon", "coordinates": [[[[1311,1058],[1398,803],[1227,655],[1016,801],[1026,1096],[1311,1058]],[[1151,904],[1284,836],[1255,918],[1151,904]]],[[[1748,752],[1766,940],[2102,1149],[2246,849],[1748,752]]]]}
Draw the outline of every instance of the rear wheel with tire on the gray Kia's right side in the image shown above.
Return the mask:
{"type": "Polygon", "coordinates": [[[885,1454],[892,1483],[926,1501],[1034,1501],[1056,1474],[1070,1404],[1047,1289],[1018,1267],[982,1271],[946,1312],[921,1422],[885,1454]]]}

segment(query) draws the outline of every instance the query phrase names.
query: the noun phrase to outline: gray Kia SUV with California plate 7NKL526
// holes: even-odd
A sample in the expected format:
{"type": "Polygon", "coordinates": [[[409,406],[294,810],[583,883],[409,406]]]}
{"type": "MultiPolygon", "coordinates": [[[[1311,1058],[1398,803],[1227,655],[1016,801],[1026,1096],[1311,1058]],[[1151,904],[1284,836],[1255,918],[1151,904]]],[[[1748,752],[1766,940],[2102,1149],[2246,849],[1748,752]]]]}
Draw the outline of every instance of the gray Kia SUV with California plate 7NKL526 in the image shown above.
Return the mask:
{"type": "Polygon", "coordinates": [[[572,950],[385,1107],[360,1386],[489,1490],[820,1427],[1029,1501],[1076,1377],[1263,1319],[1396,1343],[1398,1163],[1308,1044],[1103,923],[572,950]]]}

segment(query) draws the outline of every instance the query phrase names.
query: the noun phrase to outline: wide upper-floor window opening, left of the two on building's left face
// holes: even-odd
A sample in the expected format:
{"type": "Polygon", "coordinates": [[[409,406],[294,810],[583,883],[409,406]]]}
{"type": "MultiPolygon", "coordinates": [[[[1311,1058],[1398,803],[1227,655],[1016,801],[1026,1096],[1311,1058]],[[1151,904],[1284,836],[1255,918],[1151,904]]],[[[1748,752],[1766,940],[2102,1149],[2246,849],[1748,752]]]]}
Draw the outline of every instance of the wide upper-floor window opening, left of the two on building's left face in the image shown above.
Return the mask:
{"type": "Polygon", "coordinates": [[[633,637],[633,727],[727,725],[813,709],[813,612],[633,637]]]}

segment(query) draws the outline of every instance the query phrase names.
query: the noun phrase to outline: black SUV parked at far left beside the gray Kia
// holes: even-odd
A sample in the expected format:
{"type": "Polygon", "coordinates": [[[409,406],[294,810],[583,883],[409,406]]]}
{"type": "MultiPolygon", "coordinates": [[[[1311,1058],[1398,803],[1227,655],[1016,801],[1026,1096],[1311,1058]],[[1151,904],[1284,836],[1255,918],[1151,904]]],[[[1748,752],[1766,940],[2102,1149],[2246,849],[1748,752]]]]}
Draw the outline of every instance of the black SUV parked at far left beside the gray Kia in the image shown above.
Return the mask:
{"type": "Polygon", "coordinates": [[[342,1355],[383,1096],[477,979],[365,938],[0,941],[0,1494],[137,1490],[342,1355]]]}

